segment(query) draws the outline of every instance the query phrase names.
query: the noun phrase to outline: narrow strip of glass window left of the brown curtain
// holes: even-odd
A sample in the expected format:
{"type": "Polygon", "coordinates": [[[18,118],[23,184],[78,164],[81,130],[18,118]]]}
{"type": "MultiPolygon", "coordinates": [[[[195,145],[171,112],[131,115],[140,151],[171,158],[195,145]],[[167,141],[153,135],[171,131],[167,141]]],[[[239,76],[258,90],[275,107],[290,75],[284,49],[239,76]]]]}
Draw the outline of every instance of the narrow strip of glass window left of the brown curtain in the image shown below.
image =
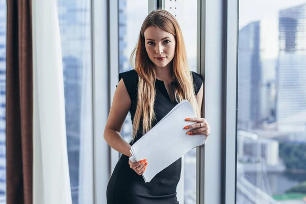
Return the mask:
{"type": "Polygon", "coordinates": [[[6,16],[0,0],[0,204],[6,203],[6,16]]]}

